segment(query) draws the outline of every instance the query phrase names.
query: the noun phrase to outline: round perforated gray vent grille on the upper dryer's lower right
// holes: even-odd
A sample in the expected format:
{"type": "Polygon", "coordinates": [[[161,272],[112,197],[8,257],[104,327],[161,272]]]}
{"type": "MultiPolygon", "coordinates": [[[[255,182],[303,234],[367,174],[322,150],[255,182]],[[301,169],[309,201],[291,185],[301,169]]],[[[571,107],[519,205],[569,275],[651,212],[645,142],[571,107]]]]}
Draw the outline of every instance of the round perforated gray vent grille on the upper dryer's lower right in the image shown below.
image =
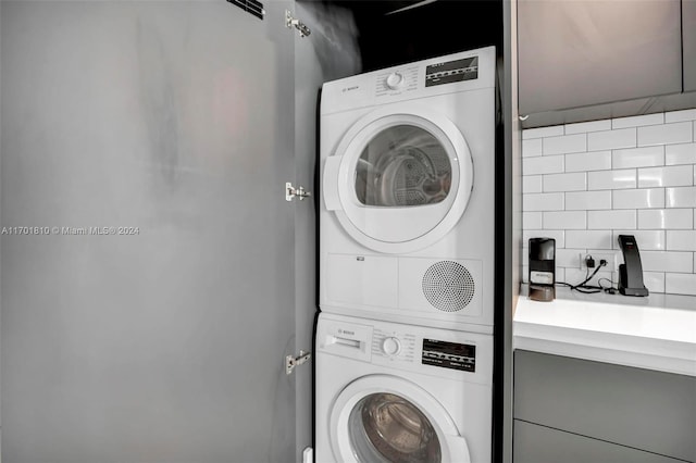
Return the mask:
{"type": "Polygon", "coordinates": [[[474,298],[475,284],[463,265],[440,261],[431,265],[423,275],[425,299],[444,312],[459,312],[474,298]]]}

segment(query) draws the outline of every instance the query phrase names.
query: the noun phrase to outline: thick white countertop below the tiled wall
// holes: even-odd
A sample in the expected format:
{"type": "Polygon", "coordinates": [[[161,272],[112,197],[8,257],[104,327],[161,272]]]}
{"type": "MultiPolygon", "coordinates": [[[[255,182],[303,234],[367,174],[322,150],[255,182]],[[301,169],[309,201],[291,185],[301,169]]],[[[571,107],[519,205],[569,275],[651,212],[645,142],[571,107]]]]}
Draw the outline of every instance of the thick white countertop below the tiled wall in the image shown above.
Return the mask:
{"type": "Polygon", "coordinates": [[[552,302],[520,296],[515,349],[696,376],[696,297],[583,295],[552,302]]]}

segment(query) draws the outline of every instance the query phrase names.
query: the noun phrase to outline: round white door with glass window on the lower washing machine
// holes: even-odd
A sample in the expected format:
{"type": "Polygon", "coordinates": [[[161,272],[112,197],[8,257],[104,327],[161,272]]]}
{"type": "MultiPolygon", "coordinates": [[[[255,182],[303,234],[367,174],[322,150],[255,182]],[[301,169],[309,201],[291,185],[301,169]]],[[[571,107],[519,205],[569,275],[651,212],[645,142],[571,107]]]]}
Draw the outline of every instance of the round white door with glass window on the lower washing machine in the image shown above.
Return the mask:
{"type": "Polygon", "coordinates": [[[467,441],[443,405],[396,376],[371,375],[348,385],[330,423],[337,462],[470,462],[467,441]]]}

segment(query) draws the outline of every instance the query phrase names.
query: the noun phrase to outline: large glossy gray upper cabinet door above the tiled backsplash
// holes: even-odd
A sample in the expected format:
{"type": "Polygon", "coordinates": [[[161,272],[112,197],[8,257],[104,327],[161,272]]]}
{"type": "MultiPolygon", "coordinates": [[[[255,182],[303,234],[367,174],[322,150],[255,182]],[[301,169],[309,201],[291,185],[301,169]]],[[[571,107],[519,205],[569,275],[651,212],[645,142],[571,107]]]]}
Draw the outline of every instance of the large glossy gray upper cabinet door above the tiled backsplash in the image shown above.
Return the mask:
{"type": "MultiPolygon", "coordinates": [[[[684,3],[693,22],[696,2],[684,3]]],[[[680,0],[520,0],[520,114],[681,92],[680,9],[680,0]]]]}

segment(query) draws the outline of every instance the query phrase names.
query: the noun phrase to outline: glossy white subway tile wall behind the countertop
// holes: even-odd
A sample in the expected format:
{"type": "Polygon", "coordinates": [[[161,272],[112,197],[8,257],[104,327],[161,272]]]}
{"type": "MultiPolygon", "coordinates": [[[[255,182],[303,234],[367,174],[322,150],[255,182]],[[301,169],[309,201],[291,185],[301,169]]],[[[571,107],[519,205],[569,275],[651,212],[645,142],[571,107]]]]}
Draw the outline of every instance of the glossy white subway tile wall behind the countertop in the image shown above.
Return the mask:
{"type": "Polygon", "coordinates": [[[556,279],[575,284],[586,275],[581,254],[622,263],[617,237],[629,234],[649,290],[696,295],[696,109],[532,128],[522,138],[525,279],[531,237],[556,239],[556,279]]]}

